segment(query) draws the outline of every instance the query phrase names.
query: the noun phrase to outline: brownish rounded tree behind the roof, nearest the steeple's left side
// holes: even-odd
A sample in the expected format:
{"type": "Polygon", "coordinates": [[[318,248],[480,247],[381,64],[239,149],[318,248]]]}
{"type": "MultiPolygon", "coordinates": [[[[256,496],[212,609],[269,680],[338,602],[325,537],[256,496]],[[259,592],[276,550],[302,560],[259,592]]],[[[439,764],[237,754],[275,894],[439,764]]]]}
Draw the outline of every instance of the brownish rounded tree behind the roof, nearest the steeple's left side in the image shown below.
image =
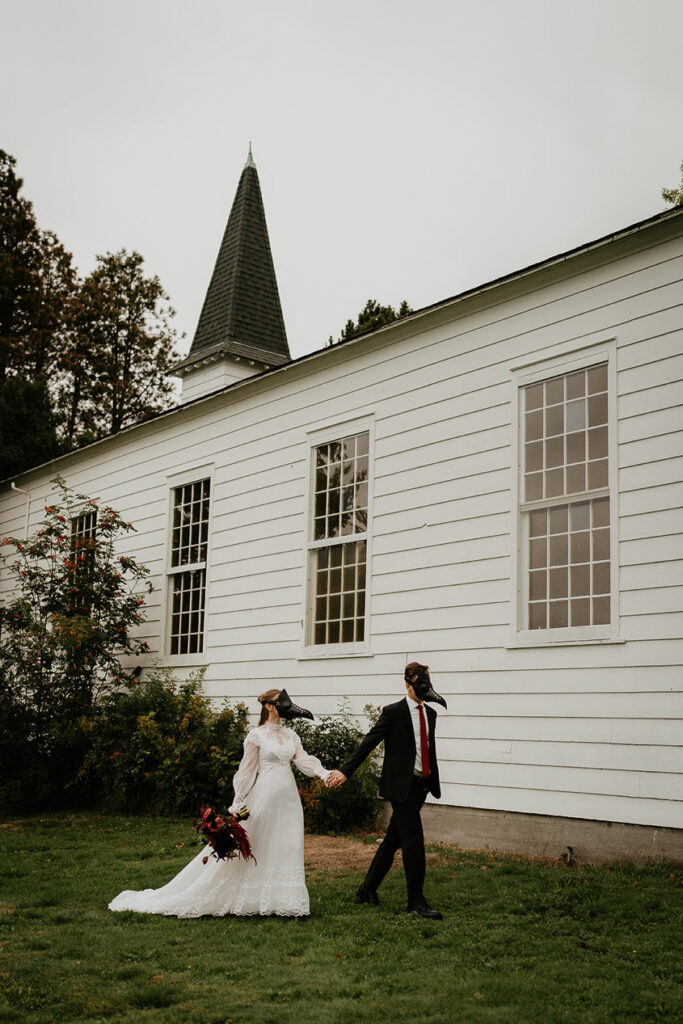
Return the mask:
{"type": "Polygon", "coordinates": [[[97,256],[74,296],[59,389],[70,443],[115,433],[168,406],[167,375],[180,358],[174,310],[142,263],[125,249],[97,256]]]}

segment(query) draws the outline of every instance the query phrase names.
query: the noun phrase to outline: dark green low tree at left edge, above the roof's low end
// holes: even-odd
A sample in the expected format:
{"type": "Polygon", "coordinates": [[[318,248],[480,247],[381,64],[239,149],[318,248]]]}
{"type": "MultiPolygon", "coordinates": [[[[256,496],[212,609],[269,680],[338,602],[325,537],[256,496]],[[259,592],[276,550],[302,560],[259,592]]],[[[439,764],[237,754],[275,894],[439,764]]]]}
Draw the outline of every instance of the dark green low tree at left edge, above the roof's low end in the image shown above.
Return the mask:
{"type": "Polygon", "coordinates": [[[13,375],[0,383],[0,480],[59,452],[47,381],[13,375]]]}

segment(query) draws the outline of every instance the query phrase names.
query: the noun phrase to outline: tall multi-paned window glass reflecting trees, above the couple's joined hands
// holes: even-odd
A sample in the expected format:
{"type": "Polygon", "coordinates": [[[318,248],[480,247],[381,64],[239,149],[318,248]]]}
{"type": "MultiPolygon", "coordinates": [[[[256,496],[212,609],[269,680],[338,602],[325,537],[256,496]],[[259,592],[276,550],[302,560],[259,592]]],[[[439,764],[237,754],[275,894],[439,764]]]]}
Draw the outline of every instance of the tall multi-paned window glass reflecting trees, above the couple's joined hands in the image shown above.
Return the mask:
{"type": "Polygon", "coordinates": [[[310,644],[366,638],[370,434],[313,449],[310,644]]]}

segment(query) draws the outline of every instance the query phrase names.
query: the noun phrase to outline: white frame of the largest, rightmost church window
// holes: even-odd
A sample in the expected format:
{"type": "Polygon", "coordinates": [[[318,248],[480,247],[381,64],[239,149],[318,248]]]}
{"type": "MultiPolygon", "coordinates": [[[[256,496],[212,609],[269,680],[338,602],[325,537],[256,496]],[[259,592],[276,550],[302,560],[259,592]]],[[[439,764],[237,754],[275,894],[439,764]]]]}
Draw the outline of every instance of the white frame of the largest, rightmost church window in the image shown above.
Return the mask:
{"type": "Polygon", "coordinates": [[[552,647],[590,643],[621,643],[620,579],[618,579],[618,443],[616,407],[616,339],[609,338],[565,350],[556,355],[540,355],[531,362],[510,369],[512,384],[512,499],[514,540],[512,552],[511,636],[510,647],[552,647]],[[609,562],[610,622],[604,626],[569,626],[561,629],[529,630],[526,628],[528,606],[528,506],[547,506],[547,502],[524,503],[523,495],[523,389],[552,377],[586,370],[596,364],[607,364],[607,452],[609,459],[608,486],[602,490],[584,492],[581,496],[560,496],[554,504],[572,504],[578,499],[590,501],[609,497],[609,562]],[[526,508],[522,509],[522,506],[526,508]]]}

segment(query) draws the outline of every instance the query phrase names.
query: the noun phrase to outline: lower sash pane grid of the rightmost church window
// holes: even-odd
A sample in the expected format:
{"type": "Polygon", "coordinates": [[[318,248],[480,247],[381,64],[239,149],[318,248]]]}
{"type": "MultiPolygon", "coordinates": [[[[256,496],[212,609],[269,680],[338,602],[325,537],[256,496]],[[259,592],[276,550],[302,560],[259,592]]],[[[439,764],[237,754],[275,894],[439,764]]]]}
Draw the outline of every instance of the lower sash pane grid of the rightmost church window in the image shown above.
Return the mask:
{"type": "Polygon", "coordinates": [[[528,628],[610,620],[609,499],[528,513],[528,628]]]}

